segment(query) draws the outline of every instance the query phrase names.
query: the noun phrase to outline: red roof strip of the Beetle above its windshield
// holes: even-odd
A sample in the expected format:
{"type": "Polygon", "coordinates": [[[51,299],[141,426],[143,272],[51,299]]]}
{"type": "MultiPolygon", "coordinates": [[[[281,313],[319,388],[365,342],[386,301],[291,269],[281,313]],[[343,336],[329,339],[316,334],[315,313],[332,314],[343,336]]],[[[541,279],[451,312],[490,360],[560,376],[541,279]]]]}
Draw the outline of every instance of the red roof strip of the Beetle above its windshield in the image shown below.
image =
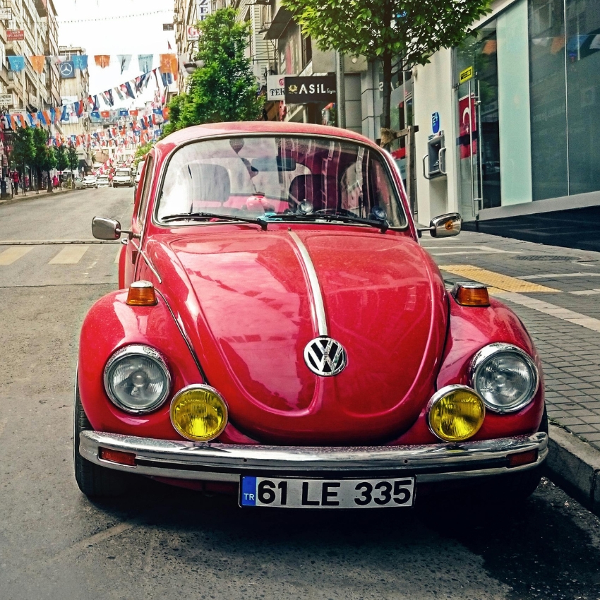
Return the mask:
{"type": "Polygon", "coordinates": [[[196,125],[186,127],[175,131],[167,136],[155,146],[162,152],[170,152],[174,146],[191,140],[201,140],[212,136],[243,136],[244,133],[256,135],[265,133],[265,135],[294,135],[302,134],[309,136],[332,136],[346,140],[354,140],[375,146],[372,140],[361,136],[359,133],[349,129],[329,127],[325,125],[312,125],[307,123],[291,123],[289,121],[234,121],[232,123],[210,123],[205,125],[196,125]]]}

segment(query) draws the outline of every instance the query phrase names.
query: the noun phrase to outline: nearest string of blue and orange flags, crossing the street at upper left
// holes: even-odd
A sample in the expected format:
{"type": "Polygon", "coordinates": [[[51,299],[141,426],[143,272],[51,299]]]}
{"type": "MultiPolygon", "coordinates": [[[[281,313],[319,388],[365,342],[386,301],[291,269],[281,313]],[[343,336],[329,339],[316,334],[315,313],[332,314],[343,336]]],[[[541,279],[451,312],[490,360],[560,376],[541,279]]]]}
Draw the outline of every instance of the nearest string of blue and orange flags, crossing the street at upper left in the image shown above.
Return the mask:
{"type": "MultiPolygon", "coordinates": [[[[177,71],[179,59],[176,54],[159,54],[160,70],[162,73],[170,73],[173,78],[177,79],[177,71]]],[[[152,69],[154,63],[154,54],[138,54],[138,68],[143,73],[148,73],[152,69]]],[[[64,54],[61,56],[7,56],[8,64],[11,71],[20,73],[25,69],[25,59],[30,61],[30,64],[36,73],[43,73],[44,69],[50,66],[59,66],[61,78],[68,79],[75,77],[76,71],[85,71],[88,68],[90,56],[88,54],[64,54]]],[[[133,60],[133,54],[95,54],[93,55],[94,64],[100,68],[107,68],[111,64],[116,64],[121,69],[121,75],[128,70],[133,60]]]]}

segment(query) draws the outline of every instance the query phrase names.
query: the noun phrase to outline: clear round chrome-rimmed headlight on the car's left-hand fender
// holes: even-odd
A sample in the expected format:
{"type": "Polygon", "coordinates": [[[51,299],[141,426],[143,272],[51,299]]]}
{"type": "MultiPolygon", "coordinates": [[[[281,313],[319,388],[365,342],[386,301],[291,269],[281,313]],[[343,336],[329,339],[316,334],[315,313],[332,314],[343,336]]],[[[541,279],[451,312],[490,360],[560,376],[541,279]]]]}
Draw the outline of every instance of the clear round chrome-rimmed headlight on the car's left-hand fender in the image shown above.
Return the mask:
{"type": "Polygon", "coordinates": [[[155,349],[133,344],[110,357],[104,368],[104,388],[117,407],[143,414],[156,410],[167,400],[171,376],[155,349]]]}

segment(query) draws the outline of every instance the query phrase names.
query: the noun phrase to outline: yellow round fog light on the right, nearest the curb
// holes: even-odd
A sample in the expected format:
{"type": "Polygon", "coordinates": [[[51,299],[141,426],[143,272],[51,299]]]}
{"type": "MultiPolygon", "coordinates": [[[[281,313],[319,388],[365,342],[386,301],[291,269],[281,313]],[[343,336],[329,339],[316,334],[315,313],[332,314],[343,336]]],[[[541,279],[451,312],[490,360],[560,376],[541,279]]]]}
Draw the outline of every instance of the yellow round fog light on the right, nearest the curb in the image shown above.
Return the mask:
{"type": "Polygon", "coordinates": [[[433,395],[428,405],[431,431],[445,442],[472,438],[484,423],[486,408],[475,390],[448,385],[433,395]]]}

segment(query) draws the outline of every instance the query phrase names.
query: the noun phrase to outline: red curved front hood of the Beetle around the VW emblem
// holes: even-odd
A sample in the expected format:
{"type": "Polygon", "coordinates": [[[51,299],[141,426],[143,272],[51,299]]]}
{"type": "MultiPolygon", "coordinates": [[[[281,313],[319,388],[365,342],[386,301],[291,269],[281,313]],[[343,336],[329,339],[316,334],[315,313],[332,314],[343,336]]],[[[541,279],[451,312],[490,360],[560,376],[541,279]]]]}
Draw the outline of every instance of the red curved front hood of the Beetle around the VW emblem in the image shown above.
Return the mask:
{"type": "Polygon", "coordinates": [[[207,229],[153,236],[148,253],[236,428],[263,443],[340,445],[414,423],[448,320],[440,272],[419,244],[359,227],[207,229]],[[347,353],[336,376],[304,359],[323,333],[311,264],[327,333],[347,353]]]}

